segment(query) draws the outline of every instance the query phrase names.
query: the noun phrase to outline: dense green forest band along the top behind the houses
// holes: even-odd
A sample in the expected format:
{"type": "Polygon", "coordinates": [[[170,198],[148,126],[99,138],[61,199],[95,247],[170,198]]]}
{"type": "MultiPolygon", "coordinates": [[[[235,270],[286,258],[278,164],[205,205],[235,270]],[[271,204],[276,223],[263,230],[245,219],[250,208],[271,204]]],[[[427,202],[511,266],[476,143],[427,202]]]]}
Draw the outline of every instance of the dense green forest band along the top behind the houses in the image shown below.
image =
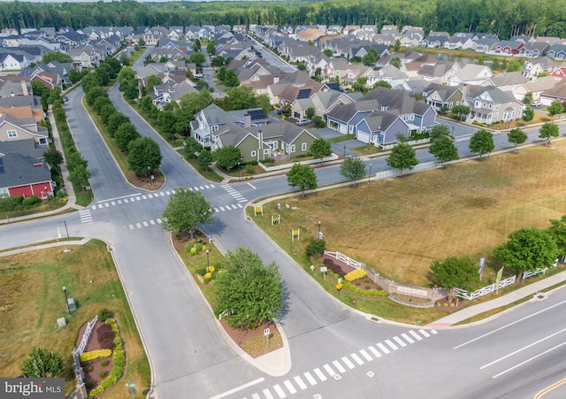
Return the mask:
{"type": "Polygon", "coordinates": [[[566,37],[566,0],[330,0],[0,3],[0,27],[412,25],[430,30],[566,37]]]}

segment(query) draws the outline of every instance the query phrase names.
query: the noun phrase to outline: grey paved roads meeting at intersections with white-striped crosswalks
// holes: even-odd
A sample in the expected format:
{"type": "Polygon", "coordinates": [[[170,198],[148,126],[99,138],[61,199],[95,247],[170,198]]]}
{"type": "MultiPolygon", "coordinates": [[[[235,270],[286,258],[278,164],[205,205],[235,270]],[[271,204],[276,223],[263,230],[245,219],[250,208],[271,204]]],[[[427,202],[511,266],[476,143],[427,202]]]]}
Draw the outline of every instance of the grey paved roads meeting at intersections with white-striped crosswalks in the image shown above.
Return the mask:
{"type": "MultiPolygon", "coordinates": [[[[499,331],[491,333],[489,338],[478,339],[460,349],[453,348],[489,333],[500,326],[499,323],[506,320],[511,323],[521,314],[510,314],[494,325],[455,331],[433,332],[414,326],[372,322],[326,295],[287,254],[254,225],[242,221],[239,205],[245,202],[240,202],[241,198],[251,200],[287,191],[284,175],[235,183],[230,187],[203,180],[133,113],[120,99],[116,88],[112,88],[110,96],[117,108],[130,117],[140,134],[160,143],[164,155],[162,169],[168,179],[164,188],[156,194],[131,187],[79,106],[79,96],[80,91],[75,91],[66,106],[73,136],[93,174],[91,185],[96,202],[81,213],[3,226],[5,238],[0,248],[54,238],[63,220],[71,235],[101,237],[109,242],[148,351],[159,397],[174,398],[190,393],[191,397],[207,398],[238,387],[235,393],[224,397],[257,397],[255,394],[283,397],[280,392],[297,395],[295,397],[312,397],[316,393],[327,398],[420,397],[438,395],[439,387],[446,396],[463,395],[463,392],[464,397],[497,397],[510,393],[523,396],[532,395],[564,372],[563,347],[549,350],[552,345],[545,347],[544,350],[549,351],[544,356],[498,376],[504,384],[499,383],[501,380],[493,381],[496,380],[493,376],[514,365],[510,362],[514,360],[512,356],[499,360],[496,372],[491,372],[495,367],[487,370],[489,373],[479,369],[482,364],[509,355],[533,340],[542,340],[545,332],[556,333],[545,340],[556,346],[555,339],[562,337],[558,331],[566,327],[561,317],[562,303],[552,311],[540,313],[540,317],[529,318],[528,323],[517,322],[517,329],[506,327],[501,334],[499,331]],[[169,234],[160,226],[160,215],[171,190],[179,186],[202,191],[217,209],[217,221],[206,227],[206,231],[222,249],[248,246],[258,252],[264,262],[274,261],[279,265],[288,289],[288,309],[282,323],[293,361],[291,371],[283,378],[268,377],[256,370],[223,340],[194,280],[171,249],[169,234]],[[228,188],[235,188],[241,196],[236,197],[228,188]],[[33,235],[29,234],[32,226],[29,223],[34,223],[33,235]],[[501,343],[501,351],[496,351],[495,339],[501,343]],[[541,369],[548,370],[548,375],[538,372],[541,369]],[[371,376],[368,372],[374,374],[371,376]],[[335,374],[338,375],[335,377],[335,374]],[[455,375],[465,378],[455,378],[455,375]],[[341,379],[335,380],[338,376],[341,379]],[[241,388],[242,384],[254,381],[249,387],[241,388]]],[[[504,134],[498,135],[496,142],[498,146],[506,145],[504,134]]],[[[463,141],[458,145],[462,155],[467,143],[463,141]]],[[[418,151],[418,157],[422,162],[432,158],[425,150],[418,151]]],[[[387,168],[383,157],[372,159],[371,163],[376,172],[387,168]]],[[[317,169],[317,176],[319,184],[343,180],[338,166],[317,169]]],[[[547,303],[560,300],[563,293],[551,296],[547,303]]],[[[541,302],[522,309],[531,311],[543,306],[545,303],[541,302]]],[[[528,354],[527,349],[523,352],[528,354]]]]}

